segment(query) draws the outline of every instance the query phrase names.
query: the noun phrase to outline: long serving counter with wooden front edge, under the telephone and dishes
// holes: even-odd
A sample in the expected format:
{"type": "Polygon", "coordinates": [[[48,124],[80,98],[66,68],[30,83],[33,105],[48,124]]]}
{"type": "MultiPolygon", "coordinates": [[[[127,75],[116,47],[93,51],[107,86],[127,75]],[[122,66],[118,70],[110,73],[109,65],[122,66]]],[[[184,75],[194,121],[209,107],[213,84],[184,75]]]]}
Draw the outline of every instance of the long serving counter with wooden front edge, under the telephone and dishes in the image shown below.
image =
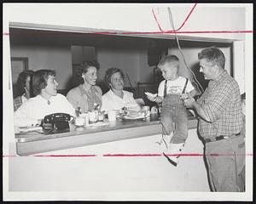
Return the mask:
{"type": "MultiPolygon", "coordinates": [[[[189,116],[189,128],[195,128],[197,120],[189,116]]],[[[69,132],[43,134],[15,134],[16,151],[27,156],[53,150],[65,150],[90,144],[102,144],[123,139],[135,139],[161,133],[158,117],[150,116],[141,120],[121,120],[104,126],[72,127],[69,132]]]]}

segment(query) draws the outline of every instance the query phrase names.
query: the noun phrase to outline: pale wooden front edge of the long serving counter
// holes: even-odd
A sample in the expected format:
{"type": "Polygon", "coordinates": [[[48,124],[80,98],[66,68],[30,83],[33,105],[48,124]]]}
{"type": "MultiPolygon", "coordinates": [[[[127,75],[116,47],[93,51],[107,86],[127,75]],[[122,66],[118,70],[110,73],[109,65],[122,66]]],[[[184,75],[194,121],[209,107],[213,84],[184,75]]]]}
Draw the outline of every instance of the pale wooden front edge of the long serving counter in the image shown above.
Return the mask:
{"type": "MultiPolygon", "coordinates": [[[[197,127],[197,120],[189,121],[189,129],[197,127]]],[[[16,142],[16,151],[19,156],[48,152],[53,150],[66,150],[91,144],[102,144],[124,139],[136,139],[161,133],[161,125],[128,127],[97,133],[72,135],[69,137],[35,140],[29,142],[16,142]]]]}

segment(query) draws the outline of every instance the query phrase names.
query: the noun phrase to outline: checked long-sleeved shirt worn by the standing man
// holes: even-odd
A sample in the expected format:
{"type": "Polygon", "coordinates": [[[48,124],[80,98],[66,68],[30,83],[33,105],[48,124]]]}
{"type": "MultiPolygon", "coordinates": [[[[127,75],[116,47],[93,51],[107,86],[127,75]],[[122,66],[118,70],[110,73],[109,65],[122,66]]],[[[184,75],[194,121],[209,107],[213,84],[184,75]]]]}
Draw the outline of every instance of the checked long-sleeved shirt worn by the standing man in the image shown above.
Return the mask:
{"type": "Polygon", "coordinates": [[[208,84],[197,102],[210,119],[199,120],[199,133],[203,138],[232,135],[241,132],[242,111],[239,86],[233,77],[223,71],[208,84]]]}

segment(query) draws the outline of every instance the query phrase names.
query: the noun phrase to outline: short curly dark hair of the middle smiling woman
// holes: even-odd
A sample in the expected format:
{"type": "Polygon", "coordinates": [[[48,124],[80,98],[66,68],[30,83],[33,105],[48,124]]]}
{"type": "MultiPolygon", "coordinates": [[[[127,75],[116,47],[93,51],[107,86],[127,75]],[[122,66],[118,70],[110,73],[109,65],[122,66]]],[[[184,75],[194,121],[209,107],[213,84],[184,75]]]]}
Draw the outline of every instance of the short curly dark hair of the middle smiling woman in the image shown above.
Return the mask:
{"type": "Polygon", "coordinates": [[[86,73],[91,66],[96,67],[96,70],[100,69],[100,65],[97,61],[85,61],[83,64],[80,64],[76,70],[74,84],[79,85],[84,83],[82,74],[86,73]]]}

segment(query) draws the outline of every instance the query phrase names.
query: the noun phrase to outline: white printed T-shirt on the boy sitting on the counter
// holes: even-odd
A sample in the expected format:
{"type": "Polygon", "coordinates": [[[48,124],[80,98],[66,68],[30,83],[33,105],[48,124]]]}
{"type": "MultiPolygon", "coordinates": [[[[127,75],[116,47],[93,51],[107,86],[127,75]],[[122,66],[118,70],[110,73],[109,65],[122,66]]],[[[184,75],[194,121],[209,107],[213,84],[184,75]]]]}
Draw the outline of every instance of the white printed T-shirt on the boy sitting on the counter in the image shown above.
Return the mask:
{"type": "MultiPolygon", "coordinates": [[[[164,96],[164,91],[165,91],[165,82],[166,80],[163,80],[160,82],[159,88],[158,88],[158,95],[163,97],[164,96]]],[[[166,94],[182,94],[183,88],[186,82],[185,77],[177,77],[176,80],[167,80],[166,84],[166,94]]],[[[195,89],[190,81],[188,81],[185,93],[189,93],[195,89]]]]}

